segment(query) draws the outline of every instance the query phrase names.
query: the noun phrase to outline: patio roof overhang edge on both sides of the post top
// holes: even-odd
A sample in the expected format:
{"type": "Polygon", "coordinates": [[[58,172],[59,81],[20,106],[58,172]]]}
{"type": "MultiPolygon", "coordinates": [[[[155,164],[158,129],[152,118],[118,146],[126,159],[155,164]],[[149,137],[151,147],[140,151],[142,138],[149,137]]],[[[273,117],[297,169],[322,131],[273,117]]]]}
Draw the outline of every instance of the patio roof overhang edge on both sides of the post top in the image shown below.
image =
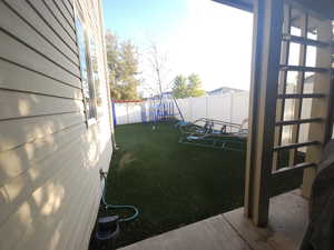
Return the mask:
{"type": "MultiPolygon", "coordinates": [[[[226,6],[230,6],[240,10],[253,12],[253,4],[255,0],[213,0],[226,6]]],[[[282,0],[283,1],[283,0],[282,0]]],[[[321,13],[325,18],[334,20],[334,1],[332,0],[286,0],[295,2],[299,7],[307,8],[315,13],[321,13]]]]}

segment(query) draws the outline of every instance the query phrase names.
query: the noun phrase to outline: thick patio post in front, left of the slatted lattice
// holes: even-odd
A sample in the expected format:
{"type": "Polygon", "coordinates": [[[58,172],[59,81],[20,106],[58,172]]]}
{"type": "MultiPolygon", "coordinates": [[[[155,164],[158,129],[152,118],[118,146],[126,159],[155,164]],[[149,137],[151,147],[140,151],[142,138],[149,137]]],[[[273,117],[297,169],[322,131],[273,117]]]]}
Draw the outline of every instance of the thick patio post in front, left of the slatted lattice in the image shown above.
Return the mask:
{"type": "Polygon", "coordinates": [[[283,1],[254,2],[245,214],[256,226],[268,221],[282,27],[283,1]]]}

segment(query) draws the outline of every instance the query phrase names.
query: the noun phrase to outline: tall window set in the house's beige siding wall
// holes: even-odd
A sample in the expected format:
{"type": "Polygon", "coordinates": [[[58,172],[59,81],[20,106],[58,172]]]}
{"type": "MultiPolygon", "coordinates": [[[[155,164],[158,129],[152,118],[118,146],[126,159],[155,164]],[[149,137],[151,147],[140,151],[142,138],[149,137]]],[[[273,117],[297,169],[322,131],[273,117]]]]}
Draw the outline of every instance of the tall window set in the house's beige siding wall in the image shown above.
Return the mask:
{"type": "Polygon", "coordinates": [[[87,40],[87,30],[82,19],[77,13],[76,17],[76,31],[77,31],[77,42],[78,52],[80,61],[81,71],[81,83],[82,83],[82,94],[85,111],[88,124],[92,123],[96,119],[96,103],[95,103],[95,86],[94,86],[94,62],[89,59],[89,43],[87,40]],[[90,67],[92,66],[92,67],[90,67]]]}

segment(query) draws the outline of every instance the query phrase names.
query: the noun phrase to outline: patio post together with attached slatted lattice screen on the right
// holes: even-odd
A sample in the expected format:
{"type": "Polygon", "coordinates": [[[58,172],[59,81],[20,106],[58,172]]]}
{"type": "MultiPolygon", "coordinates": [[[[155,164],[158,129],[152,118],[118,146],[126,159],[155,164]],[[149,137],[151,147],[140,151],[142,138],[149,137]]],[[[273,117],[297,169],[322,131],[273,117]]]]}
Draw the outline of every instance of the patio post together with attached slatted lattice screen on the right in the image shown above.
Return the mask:
{"type": "Polygon", "coordinates": [[[272,178],[302,170],[303,194],[310,196],[332,136],[333,27],[310,11],[293,1],[254,6],[245,212],[257,226],[268,222],[272,178]],[[310,113],[303,112],[307,106],[310,113]]]}

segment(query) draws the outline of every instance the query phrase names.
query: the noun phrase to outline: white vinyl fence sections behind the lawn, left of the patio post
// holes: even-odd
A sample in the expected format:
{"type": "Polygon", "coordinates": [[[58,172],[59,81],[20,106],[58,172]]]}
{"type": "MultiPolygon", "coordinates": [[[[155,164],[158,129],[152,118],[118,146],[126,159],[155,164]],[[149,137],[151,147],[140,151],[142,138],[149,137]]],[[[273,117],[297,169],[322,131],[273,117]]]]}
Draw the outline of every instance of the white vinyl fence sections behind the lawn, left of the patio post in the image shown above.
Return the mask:
{"type": "MultiPolygon", "coordinates": [[[[208,118],[242,123],[248,117],[248,92],[177,99],[177,104],[186,121],[208,118]]],[[[151,108],[151,101],[115,103],[116,124],[153,121],[151,108]]],[[[176,118],[180,119],[175,104],[174,112],[176,118]]]]}

